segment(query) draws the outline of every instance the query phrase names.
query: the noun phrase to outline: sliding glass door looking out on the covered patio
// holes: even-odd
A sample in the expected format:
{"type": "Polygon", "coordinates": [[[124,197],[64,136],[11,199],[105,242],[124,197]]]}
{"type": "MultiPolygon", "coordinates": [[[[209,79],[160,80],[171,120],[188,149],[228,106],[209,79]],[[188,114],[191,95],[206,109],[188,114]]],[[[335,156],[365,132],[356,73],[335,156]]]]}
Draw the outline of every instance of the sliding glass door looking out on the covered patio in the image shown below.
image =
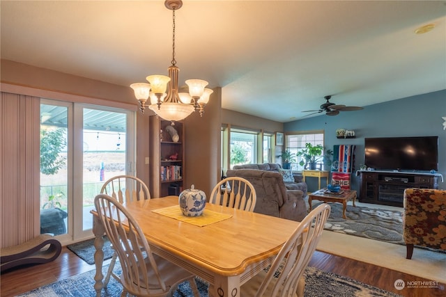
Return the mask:
{"type": "Polygon", "coordinates": [[[51,213],[55,225],[41,232],[68,241],[91,236],[90,211],[102,184],[135,173],[133,112],[42,99],[40,115],[40,224],[51,213]],[[43,164],[51,166],[43,172],[43,164]]]}

